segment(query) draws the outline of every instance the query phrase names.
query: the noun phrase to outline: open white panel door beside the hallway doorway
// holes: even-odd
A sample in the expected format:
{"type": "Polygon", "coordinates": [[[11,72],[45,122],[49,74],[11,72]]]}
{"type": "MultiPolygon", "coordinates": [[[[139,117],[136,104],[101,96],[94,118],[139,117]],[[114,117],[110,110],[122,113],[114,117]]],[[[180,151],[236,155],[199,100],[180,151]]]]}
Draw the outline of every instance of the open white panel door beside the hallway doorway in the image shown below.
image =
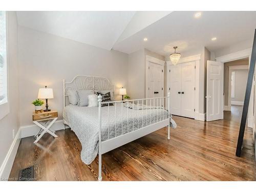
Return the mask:
{"type": "Polygon", "coordinates": [[[223,63],[207,61],[206,121],[223,119],[223,63]]]}

